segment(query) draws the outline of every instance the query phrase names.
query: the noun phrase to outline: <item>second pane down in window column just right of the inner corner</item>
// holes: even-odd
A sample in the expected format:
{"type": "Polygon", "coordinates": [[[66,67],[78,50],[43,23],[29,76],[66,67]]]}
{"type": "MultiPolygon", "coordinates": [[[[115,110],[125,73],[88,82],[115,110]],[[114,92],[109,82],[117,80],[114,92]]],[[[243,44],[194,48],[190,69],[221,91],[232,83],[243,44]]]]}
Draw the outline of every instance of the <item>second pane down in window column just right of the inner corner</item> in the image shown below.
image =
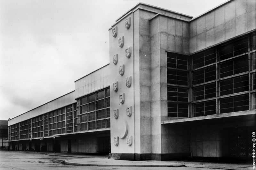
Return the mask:
{"type": "Polygon", "coordinates": [[[193,72],[193,85],[205,83],[216,79],[215,65],[193,72]]]}

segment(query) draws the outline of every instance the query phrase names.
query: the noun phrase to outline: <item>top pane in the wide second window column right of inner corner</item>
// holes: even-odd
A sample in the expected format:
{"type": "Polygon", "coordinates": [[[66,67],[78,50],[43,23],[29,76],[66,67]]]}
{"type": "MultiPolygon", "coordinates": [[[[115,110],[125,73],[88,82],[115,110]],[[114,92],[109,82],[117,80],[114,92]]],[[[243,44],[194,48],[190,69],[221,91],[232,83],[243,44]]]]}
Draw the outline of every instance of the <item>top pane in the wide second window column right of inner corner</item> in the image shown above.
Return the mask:
{"type": "Polygon", "coordinates": [[[219,48],[220,61],[248,52],[248,38],[244,37],[237,41],[224,44],[219,48]]]}

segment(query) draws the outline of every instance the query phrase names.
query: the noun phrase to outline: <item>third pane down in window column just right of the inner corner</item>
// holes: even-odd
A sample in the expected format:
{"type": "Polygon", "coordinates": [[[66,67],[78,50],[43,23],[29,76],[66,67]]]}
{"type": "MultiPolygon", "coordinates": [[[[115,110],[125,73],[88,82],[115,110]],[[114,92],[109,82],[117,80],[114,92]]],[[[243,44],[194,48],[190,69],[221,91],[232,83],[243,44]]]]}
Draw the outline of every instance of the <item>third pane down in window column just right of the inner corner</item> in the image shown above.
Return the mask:
{"type": "Polygon", "coordinates": [[[216,97],[216,83],[194,87],[193,100],[203,100],[216,97]]]}

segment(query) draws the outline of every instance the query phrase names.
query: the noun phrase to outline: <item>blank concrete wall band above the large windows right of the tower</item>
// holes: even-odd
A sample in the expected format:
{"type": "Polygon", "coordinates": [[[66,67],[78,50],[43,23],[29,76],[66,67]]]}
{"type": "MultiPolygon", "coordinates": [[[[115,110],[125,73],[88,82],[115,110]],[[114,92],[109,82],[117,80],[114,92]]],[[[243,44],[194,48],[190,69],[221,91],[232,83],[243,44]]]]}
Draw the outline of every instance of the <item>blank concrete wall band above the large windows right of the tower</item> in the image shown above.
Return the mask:
{"type": "Polygon", "coordinates": [[[189,53],[256,29],[255,6],[253,0],[233,0],[192,19],[189,22],[189,53]]]}

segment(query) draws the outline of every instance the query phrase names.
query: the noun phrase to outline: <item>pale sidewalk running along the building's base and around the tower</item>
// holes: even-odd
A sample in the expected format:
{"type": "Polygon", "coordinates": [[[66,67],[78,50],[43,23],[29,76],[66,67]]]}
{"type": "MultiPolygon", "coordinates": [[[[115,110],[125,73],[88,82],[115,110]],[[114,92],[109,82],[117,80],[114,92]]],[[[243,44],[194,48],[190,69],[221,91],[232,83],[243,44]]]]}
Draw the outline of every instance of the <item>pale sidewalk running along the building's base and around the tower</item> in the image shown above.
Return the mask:
{"type": "MultiPolygon", "coordinates": [[[[11,151],[22,152],[22,151],[11,151]]],[[[250,170],[252,163],[223,163],[223,162],[205,162],[205,161],[129,161],[129,160],[115,160],[108,159],[104,155],[80,155],[71,153],[50,153],[50,152],[29,152],[40,153],[49,156],[61,156],[74,159],[65,160],[65,164],[75,166],[149,166],[149,167],[175,167],[187,166],[198,168],[214,168],[214,169],[231,169],[231,170],[250,170]]]]}

